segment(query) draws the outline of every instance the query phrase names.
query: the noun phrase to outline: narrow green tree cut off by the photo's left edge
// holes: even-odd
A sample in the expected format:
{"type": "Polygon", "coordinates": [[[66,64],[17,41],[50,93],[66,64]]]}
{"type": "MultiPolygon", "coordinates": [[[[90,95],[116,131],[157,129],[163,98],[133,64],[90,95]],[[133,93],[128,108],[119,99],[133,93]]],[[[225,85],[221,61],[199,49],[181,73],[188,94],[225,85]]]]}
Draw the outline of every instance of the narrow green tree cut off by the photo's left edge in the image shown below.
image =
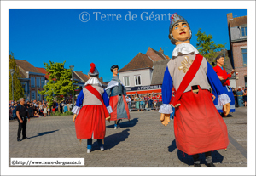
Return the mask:
{"type": "MultiPolygon", "coordinates": [[[[13,75],[13,82],[14,82],[14,100],[17,101],[20,98],[24,97],[24,89],[22,88],[21,82],[20,82],[20,71],[18,66],[15,62],[15,56],[13,53],[9,54],[9,70],[15,69],[15,73],[13,75]]],[[[9,71],[9,100],[13,99],[12,94],[12,75],[9,71]]]]}

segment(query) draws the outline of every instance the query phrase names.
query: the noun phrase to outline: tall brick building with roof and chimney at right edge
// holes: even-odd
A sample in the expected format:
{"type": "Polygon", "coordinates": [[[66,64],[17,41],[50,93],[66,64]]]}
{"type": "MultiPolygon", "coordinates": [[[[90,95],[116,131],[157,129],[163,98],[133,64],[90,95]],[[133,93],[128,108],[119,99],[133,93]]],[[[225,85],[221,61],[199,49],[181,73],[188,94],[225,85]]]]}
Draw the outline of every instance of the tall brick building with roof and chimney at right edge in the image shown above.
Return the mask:
{"type": "Polygon", "coordinates": [[[227,14],[232,65],[236,70],[236,88],[247,86],[247,16],[227,14]]]}

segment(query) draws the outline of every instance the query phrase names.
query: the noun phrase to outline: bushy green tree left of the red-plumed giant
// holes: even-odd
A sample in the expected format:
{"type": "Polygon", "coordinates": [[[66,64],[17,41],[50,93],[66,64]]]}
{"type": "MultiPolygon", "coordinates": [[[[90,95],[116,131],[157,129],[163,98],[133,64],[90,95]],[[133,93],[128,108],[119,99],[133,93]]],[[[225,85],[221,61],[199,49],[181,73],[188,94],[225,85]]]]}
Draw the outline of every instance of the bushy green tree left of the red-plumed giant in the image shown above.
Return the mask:
{"type": "MultiPolygon", "coordinates": [[[[49,74],[49,82],[44,85],[44,90],[40,91],[39,94],[46,95],[46,100],[49,102],[50,106],[53,105],[53,100],[60,104],[61,100],[63,100],[67,94],[72,94],[72,73],[70,69],[64,68],[65,62],[66,61],[63,63],[54,63],[49,61],[49,64],[44,62],[45,70],[47,74],[49,74]]],[[[79,87],[74,87],[74,89],[76,88],[79,87]]]]}

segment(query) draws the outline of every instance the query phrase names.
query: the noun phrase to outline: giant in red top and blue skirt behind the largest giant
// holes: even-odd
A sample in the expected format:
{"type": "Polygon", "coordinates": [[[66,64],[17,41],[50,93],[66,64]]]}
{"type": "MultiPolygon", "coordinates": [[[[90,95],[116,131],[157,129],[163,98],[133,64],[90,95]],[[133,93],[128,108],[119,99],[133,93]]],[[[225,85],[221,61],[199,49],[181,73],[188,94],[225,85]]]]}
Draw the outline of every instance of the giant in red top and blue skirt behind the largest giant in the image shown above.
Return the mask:
{"type": "MultiPolygon", "coordinates": [[[[221,105],[218,105],[218,100],[215,99],[214,105],[217,108],[218,112],[223,112],[223,116],[228,116],[230,112],[236,111],[235,110],[235,98],[234,98],[232,88],[230,87],[230,80],[229,80],[229,78],[232,76],[232,74],[235,71],[232,70],[231,73],[228,74],[228,72],[223,67],[223,65],[224,65],[224,57],[223,56],[218,55],[218,57],[215,60],[216,60],[217,66],[215,66],[213,69],[217,73],[218,78],[220,79],[220,81],[223,85],[224,93],[229,95],[231,101],[230,101],[230,103],[221,106],[221,105]]],[[[215,96],[217,95],[217,93],[214,90],[212,91],[212,94],[214,94],[215,96]]]]}

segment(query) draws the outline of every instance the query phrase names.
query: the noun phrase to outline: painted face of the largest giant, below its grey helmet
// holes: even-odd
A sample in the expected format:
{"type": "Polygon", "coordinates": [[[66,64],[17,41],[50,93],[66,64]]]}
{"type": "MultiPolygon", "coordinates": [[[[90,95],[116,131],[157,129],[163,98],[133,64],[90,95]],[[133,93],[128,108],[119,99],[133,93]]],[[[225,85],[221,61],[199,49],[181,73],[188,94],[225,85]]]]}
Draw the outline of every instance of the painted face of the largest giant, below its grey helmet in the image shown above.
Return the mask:
{"type": "Polygon", "coordinates": [[[186,41],[190,38],[189,25],[186,22],[179,22],[172,28],[172,37],[176,40],[186,41]]]}

